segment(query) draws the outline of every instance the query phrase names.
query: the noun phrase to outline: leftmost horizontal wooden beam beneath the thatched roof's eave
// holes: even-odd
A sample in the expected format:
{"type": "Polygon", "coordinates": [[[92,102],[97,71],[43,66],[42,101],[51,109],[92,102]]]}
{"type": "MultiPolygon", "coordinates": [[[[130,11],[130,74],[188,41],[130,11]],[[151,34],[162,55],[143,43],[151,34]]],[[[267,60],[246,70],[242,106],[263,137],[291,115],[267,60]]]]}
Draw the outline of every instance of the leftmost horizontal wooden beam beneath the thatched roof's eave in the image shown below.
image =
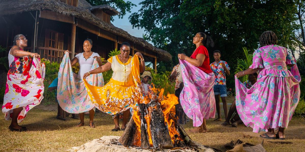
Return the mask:
{"type": "Polygon", "coordinates": [[[55,20],[55,21],[59,21],[59,22],[66,22],[66,23],[71,23],[71,24],[75,23],[73,16],[67,16],[67,15],[63,15],[58,12],[52,12],[49,10],[41,10],[39,17],[44,18],[44,19],[51,19],[51,20],[55,20]]]}

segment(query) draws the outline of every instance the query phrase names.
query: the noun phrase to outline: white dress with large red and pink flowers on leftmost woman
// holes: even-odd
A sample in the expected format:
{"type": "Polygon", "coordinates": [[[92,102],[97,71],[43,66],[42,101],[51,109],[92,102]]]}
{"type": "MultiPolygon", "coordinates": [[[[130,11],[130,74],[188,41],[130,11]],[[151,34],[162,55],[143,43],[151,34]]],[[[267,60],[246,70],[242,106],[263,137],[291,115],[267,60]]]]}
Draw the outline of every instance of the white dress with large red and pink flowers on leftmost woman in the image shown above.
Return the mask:
{"type": "Polygon", "coordinates": [[[27,112],[43,99],[45,64],[41,64],[40,58],[14,57],[9,68],[2,112],[5,120],[10,120],[13,109],[23,107],[17,117],[20,123],[27,112]]]}

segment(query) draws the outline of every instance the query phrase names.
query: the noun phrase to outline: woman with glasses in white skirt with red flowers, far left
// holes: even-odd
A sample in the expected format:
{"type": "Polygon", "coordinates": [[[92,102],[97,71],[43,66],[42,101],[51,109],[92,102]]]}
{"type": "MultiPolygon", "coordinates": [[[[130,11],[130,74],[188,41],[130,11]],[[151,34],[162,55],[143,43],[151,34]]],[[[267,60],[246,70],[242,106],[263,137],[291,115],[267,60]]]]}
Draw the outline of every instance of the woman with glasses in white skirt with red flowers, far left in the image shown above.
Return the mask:
{"type": "Polygon", "coordinates": [[[27,112],[39,105],[43,99],[45,64],[40,63],[37,53],[23,49],[27,47],[27,39],[22,34],[14,37],[14,46],[9,51],[9,72],[7,73],[6,89],[2,112],[5,119],[12,119],[9,130],[25,131],[19,126],[27,112]],[[32,56],[30,58],[29,56],[32,56]]]}

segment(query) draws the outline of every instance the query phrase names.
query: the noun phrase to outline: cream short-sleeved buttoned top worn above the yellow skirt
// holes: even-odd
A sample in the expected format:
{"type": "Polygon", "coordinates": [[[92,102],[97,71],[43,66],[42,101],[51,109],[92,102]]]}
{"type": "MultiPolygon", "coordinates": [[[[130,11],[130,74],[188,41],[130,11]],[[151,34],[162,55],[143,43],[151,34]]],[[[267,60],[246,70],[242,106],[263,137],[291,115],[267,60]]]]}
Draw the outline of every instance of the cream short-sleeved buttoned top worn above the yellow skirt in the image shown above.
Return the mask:
{"type": "Polygon", "coordinates": [[[131,66],[132,57],[129,56],[128,61],[124,64],[119,60],[118,55],[110,57],[108,62],[111,63],[111,69],[113,71],[112,79],[121,82],[121,85],[127,85],[132,82],[131,66]]]}

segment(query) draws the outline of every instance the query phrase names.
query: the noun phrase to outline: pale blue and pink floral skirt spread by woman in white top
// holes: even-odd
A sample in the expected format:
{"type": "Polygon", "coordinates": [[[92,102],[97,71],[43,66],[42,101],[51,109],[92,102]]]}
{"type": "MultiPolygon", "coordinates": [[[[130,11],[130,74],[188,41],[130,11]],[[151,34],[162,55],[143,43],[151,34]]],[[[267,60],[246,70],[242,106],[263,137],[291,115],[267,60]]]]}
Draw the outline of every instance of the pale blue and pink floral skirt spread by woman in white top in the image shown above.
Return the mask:
{"type": "MultiPolygon", "coordinates": [[[[93,61],[91,70],[99,67],[96,60],[93,61]]],[[[104,79],[102,73],[91,74],[87,81],[90,85],[102,87],[104,79]]],[[[82,113],[91,110],[94,105],[87,94],[84,80],[78,79],[72,72],[69,53],[65,53],[60,64],[57,84],[57,100],[60,107],[69,113],[82,113]]]]}

